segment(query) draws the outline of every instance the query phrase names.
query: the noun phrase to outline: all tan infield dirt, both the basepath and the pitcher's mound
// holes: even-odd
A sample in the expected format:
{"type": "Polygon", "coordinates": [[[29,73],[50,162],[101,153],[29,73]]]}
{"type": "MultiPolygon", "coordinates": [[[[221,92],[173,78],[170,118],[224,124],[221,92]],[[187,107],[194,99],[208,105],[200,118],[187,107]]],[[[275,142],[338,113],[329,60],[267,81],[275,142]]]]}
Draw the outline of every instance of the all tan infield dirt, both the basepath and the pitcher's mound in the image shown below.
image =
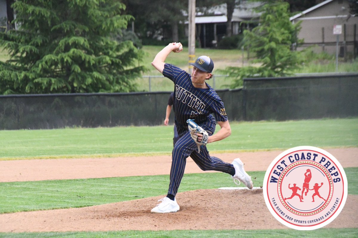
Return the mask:
{"type": "MultiPolygon", "coordinates": [[[[358,148],[325,149],[345,167],[358,167],[358,148]]],[[[247,171],[266,170],[282,151],[212,154],[247,171]]],[[[0,161],[0,182],[169,174],[170,156],[0,161]],[[145,166],[143,166],[145,165],[145,166]]],[[[202,173],[189,158],[185,173],[202,173]]],[[[210,173],[210,172],[204,172],[210,173]]],[[[196,190],[179,193],[180,211],[151,214],[163,196],[92,207],[0,215],[0,232],[286,229],[266,208],[262,189],[196,190]]],[[[357,195],[348,195],[340,215],[326,227],[358,228],[357,195]]]]}

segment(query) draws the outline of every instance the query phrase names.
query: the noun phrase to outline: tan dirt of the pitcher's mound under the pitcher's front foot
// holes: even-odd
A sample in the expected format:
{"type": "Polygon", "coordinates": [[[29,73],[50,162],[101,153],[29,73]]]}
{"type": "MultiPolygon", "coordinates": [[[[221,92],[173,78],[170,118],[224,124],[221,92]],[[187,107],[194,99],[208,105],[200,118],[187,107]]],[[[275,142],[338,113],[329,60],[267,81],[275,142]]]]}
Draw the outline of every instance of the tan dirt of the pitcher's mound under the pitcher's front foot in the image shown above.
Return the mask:
{"type": "MultiPolygon", "coordinates": [[[[0,232],[286,229],[267,209],[262,189],[205,189],[178,193],[180,210],[150,213],[164,196],[92,207],[0,215],[0,232]]],[[[348,195],[340,215],[326,227],[357,228],[357,195],[348,195]]]]}

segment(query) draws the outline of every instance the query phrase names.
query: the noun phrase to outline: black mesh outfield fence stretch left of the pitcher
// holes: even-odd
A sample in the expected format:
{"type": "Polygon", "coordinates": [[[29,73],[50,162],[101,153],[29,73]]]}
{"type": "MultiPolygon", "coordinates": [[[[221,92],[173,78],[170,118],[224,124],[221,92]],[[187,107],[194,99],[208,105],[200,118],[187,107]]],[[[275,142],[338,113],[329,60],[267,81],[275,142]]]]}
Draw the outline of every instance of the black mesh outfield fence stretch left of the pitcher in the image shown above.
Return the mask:
{"type": "MultiPolygon", "coordinates": [[[[0,129],[158,125],[170,93],[10,95],[0,98],[0,129]]],[[[173,122],[173,121],[172,121],[173,122]]]]}

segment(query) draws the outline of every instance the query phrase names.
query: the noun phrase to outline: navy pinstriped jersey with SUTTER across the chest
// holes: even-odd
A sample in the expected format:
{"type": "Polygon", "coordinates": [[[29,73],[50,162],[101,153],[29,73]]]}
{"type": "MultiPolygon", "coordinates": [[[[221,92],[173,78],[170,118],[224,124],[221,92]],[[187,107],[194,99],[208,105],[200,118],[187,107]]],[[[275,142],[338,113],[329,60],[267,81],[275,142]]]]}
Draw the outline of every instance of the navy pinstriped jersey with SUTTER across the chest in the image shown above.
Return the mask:
{"type": "Polygon", "coordinates": [[[187,130],[188,119],[197,124],[207,122],[212,116],[216,121],[228,120],[221,98],[210,85],[207,84],[208,89],[195,88],[191,75],[171,64],[164,65],[163,75],[175,84],[173,107],[179,134],[187,130]]]}

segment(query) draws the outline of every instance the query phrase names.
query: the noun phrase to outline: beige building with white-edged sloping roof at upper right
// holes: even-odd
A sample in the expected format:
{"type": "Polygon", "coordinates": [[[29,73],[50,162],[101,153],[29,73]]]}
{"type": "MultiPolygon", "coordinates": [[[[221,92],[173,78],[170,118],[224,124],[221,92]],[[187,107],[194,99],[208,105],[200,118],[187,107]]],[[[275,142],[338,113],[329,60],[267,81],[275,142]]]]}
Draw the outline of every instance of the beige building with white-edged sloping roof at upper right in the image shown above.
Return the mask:
{"type": "Polygon", "coordinates": [[[347,0],[326,0],[300,14],[292,16],[293,23],[302,21],[299,39],[304,45],[314,46],[314,50],[336,53],[345,59],[355,58],[358,53],[358,16],[349,13],[347,0]]]}

